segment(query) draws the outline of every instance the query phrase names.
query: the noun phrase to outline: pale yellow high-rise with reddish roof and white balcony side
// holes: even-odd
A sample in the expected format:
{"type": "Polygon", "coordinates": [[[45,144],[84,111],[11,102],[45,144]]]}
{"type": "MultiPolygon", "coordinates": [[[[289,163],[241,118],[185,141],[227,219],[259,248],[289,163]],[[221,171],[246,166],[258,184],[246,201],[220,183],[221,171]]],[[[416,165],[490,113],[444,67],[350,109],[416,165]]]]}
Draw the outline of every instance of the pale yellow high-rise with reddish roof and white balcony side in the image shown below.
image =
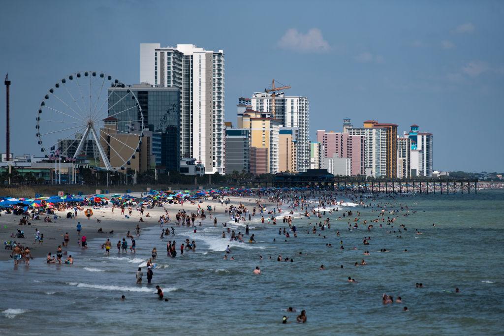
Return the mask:
{"type": "MultiPolygon", "coordinates": [[[[272,118],[270,113],[261,113],[251,109],[246,109],[241,116],[241,128],[250,130],[250,147],[265,148],[268,151],[267,168],[268,173],[278,172],[278,132],[280,120],[272,118]]],[[[239,123],[240,123],[239,122],[239,123]]]]}

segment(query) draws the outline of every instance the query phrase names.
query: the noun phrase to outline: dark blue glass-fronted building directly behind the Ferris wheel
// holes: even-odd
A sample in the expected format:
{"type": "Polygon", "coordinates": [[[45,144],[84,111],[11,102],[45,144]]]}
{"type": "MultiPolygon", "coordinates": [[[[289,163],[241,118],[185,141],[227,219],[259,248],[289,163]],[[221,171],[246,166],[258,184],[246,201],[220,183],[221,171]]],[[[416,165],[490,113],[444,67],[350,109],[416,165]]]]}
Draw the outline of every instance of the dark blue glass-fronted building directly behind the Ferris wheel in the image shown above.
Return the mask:
{"type": "Polygon", "coordinates": [[[108,89],[108,116],[118,118],[117,131],[140,131],[142,115],[134,99],[124,99],[128,90],[137,96],[142,109],[144,128],[153,133],[152,155],[156,167],[178,171],[180,95],[177,88],[153,87],[148,84],[119,85],[108,89]],[[160,133],[156,135],[156,133],[160,133]]]}

